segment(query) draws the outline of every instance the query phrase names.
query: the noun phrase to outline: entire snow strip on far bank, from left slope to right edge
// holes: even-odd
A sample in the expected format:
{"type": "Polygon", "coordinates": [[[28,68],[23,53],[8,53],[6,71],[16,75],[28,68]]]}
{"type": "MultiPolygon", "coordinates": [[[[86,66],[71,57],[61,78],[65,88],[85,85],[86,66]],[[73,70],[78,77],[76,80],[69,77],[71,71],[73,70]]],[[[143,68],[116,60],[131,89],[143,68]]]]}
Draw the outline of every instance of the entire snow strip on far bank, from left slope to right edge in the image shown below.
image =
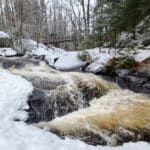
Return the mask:
{"type": "MultiPolygon", "coordinates": [[[[90,57],[90,65],[86,68],[90,72],[98,72],[108,64],[108,62],[115,57],[128,56],[133,57],[135,61],[142,62],[147,58],[150,58],[150,50],[128,50],[128,49],[114,49],[114,48],[95,48],[88,49],[82,52],[71,51],[67,52],[63,49],[51,47],[47,48],[43,44],[37,44],[35,41],[31,41],[33,47],[31,55],[45,56],[45,60],[48,64],[58,70],[73,70],[80,69],[89,63],[89,60],[83,61],[79,55],[82,53],[87,53],[90,57]]],[[[28,44],[29,45],[29,44],[28,44]]]]}

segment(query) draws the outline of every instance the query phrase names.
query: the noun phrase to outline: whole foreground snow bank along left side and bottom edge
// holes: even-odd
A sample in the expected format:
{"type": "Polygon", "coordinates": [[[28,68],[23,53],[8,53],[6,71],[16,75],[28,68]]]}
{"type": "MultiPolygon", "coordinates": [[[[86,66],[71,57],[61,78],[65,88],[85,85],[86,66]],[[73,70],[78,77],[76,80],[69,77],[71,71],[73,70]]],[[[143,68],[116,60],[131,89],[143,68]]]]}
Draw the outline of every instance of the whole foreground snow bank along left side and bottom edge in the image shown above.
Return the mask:
{"type": "Polygon", "coordinates": [[[127,143],[119,147],[90,146],[79,140],[60,139],[56,135],[24,122],[27,99],[33,86],[22,77],[0,71],[0,149],[2,150],[149,150],[146,142],[127,143]],[[18,84],[19,83],[19,84],[18,84]]]}

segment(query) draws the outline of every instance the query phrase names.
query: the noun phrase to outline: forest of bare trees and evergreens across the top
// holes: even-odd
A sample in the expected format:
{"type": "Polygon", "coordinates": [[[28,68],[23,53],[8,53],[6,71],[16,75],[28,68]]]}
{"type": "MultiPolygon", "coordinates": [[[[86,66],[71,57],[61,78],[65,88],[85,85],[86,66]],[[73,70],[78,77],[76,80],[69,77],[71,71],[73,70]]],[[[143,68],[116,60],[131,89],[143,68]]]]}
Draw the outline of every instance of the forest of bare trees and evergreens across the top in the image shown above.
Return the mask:
{"type": "Polygon", "coordinates": [[[115,47],[121,32],[131,32],[150,14],[149,0],[1,0],[0,29],[16,38],[61,44],[68,50],[115,47]]]}

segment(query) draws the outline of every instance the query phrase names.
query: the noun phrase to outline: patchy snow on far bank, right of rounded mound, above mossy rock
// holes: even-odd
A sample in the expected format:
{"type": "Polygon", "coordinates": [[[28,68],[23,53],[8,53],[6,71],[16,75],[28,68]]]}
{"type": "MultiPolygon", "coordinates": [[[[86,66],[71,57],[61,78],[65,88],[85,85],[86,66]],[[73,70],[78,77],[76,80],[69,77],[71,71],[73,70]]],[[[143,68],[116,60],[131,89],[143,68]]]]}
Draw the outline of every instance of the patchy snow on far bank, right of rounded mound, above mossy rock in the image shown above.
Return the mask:
{"type": "Polygon", "coordinates": [[[150,50],[147,49],[134,49],[128,50],[127,48],[119,51],[119,49],[113,48],[95,48],[86,50],[88,52],[91,63],[86,68],[89,72],[99,72],[101,71],[108,62],[113,58],[118,57],[133,57],[136,62],[143,62],[144,60],[150,58],[150,50]]]}

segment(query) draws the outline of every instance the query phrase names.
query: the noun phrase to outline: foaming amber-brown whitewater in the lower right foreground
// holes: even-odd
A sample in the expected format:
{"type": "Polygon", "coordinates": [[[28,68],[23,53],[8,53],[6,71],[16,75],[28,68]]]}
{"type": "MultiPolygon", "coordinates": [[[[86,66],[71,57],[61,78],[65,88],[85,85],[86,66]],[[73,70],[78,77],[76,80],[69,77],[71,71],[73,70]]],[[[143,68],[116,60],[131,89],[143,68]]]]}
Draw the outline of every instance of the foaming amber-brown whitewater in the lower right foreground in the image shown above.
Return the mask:
{"type": "Polygon", "coordinates": [[[37,126],[63,135],[97,135],[102,143],[150,140],[150,98],[128,90],[111,90],[90,107],[37,126]]]}

